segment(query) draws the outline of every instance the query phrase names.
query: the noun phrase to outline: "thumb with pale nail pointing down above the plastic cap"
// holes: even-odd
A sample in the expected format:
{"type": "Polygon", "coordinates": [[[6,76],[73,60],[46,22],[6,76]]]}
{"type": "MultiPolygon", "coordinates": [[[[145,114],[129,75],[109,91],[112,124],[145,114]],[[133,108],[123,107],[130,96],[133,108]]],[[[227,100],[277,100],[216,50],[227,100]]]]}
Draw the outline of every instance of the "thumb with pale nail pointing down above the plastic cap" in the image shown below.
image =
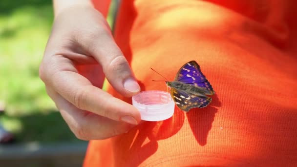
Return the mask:
{"type": "Polygon", "coordinates": [[[81,45],[101,64],[108,82],[123,96],[131,97],[140,91],[140,86],[122,51],[105,31],[81,45]]]}

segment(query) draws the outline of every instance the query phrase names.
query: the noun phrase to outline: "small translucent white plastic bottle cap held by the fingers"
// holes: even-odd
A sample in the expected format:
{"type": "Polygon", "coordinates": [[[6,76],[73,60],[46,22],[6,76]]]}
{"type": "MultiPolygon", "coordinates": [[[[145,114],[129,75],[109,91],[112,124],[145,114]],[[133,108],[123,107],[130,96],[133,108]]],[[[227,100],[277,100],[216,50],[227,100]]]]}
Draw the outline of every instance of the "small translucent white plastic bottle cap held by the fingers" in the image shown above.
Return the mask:
{"type": "Polygon", "coordinates": [[[169,93],[159,90],[148,90],[132,96],[132,104],[139,110],[145,121],[162,121],[172,117],[174,101],[169,93]]]}

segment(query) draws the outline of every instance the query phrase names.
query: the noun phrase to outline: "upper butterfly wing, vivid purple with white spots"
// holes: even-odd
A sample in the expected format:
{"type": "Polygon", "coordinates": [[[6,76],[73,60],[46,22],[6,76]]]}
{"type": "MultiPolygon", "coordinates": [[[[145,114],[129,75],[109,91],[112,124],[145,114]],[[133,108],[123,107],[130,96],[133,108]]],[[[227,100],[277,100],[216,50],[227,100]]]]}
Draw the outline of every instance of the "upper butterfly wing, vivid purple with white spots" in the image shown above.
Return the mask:
{"type": "Polygon", "coordinates": [[[174,81],[184,84],[191,84],[209,90],[210,95],[214,94],[212,85],[201,72],[200,66],[195,61],[183,65],[177,72],[174,81]]]}

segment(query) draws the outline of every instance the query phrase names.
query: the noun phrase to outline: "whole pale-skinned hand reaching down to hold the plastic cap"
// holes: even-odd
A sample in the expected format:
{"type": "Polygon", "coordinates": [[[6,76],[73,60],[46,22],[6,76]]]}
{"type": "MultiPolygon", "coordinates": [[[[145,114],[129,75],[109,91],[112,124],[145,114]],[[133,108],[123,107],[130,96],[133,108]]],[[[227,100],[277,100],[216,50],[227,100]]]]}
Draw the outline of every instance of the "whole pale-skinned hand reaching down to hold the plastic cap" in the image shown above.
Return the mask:
{"type": "Polygon", "coordinates": [[[105,77],[126,97],[140,86],[105,18],[90,0],[53,1],[55,20],[39,71],[48,95],[81,140],[127,132],[140,113],[101,88],[105,77]]]}

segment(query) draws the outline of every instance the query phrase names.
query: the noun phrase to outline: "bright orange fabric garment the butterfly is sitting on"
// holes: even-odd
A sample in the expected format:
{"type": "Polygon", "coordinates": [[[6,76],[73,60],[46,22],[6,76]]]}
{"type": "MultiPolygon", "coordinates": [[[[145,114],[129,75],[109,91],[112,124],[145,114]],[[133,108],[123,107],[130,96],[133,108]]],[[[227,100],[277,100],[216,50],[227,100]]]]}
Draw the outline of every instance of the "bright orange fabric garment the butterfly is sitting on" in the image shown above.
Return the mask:
{"type": "MultiPolygon", "coordinates": [[[[206,108],[91,141],[85,167],[297,166],[295,0],[122,0],[115,40],[142,91],[199,63],[206,108]]],[[[110,85],[108,92],[124,101],[110,85]]]]}

